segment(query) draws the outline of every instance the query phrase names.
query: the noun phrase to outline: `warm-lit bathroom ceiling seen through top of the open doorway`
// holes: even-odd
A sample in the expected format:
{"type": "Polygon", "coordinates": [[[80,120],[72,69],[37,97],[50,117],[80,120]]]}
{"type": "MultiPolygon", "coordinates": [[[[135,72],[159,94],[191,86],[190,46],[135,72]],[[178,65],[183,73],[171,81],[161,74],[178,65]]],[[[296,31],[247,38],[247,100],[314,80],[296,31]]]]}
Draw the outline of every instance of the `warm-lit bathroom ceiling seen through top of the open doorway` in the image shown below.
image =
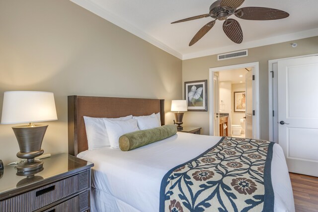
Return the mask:
{"type": "MultiPolygon", "coordinates": [[[[252,68],[247,68],[252,70],[252,68]]],[[[219,81],[230,81],[231,84],[245,83],[245,74],[248,73],[246,69],[235,69],[228,71],[219,71],[219,81]],[[241,77],[240,77],[241,76],[241,77]]]]}

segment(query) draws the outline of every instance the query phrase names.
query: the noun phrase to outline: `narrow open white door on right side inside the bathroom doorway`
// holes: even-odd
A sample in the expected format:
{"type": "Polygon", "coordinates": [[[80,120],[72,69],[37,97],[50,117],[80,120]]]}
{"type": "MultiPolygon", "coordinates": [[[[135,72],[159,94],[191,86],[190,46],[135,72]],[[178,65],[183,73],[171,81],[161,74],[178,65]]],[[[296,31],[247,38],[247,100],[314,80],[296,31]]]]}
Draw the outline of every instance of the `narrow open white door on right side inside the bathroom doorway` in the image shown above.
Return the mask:
{"type": "Polygon", "coordinates": [[[245,137],[253,139],[253,71],[245,74],[245,137]]]}

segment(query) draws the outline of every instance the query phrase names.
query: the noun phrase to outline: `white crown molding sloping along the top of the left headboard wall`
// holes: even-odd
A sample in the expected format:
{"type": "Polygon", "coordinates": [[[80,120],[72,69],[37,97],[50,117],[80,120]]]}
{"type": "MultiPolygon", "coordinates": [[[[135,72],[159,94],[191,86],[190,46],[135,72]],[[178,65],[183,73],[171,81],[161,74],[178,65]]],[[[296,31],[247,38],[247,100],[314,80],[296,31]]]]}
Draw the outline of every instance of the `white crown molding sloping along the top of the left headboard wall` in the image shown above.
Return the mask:
{"type": "Polygon", "coordinates": [[[117,16],[115,16],[114,14],[111,14],[110,12],[106,11],[105,9],[103,9],[101,6],[99,6],[96,3],[93,3],[90,0],[70,0],[76,4],[78,4],[79,6],[87,9],[88,11],[106,19],[107,21],[119,26],[120,28],[125,29],[126,31],[132,33],[133,35],[136,35],[137,37],[153,44],[154,46],[158,47],[159,49],[162,49],[163,51],[179,58],[182,60],[182,54],[180,54],[179,52],[171,49],[170,47],[168,47],[167,45],[163,44],[162,42],[160,42],[159,40],[157,40],[156,38],[150,36],[149,34],[143,32],[142,30],[138,29],[137,27],[127,23],[126,21],[124,21],[122,18],[119,18],[117,16]]]}

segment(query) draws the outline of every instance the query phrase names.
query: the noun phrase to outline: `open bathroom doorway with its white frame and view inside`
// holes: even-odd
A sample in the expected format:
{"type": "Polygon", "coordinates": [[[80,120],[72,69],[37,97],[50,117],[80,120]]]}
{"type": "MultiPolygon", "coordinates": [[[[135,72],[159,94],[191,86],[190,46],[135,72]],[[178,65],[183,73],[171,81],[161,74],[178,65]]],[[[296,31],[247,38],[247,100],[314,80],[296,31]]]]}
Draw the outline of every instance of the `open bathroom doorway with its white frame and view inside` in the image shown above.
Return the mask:
{"type": "Polygon", "coordinates": [[[210,135],[259,139],[258,66],[210,69],[210,135]]]}

